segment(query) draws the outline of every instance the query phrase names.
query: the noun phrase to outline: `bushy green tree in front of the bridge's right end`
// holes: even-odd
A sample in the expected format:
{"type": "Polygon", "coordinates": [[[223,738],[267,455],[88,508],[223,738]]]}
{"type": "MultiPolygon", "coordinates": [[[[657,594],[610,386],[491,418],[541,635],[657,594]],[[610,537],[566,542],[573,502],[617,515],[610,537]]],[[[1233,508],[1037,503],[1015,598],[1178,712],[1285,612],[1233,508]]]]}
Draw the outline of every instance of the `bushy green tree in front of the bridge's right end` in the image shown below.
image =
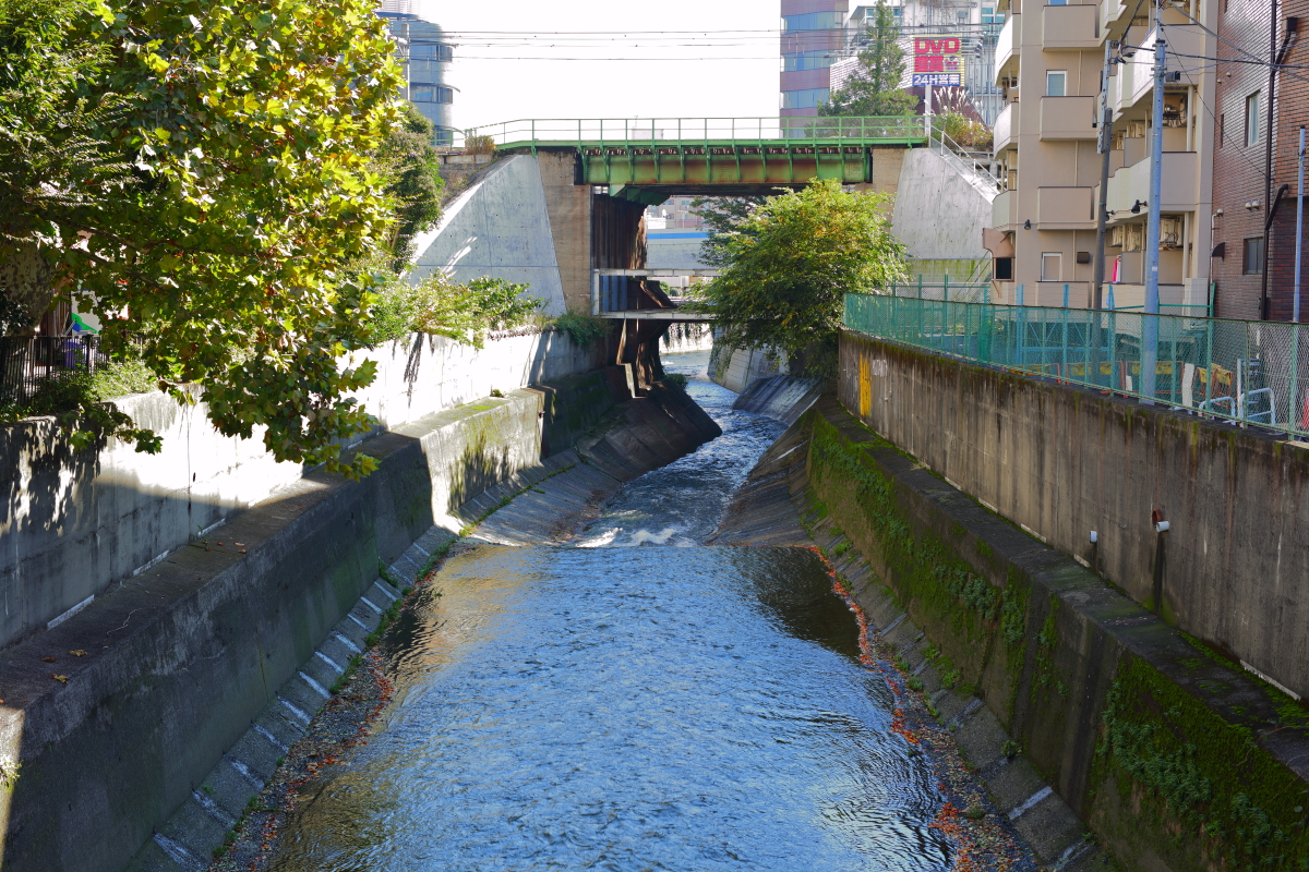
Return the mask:
{"type": "Polygon", "coordinates": [[[768,199],[726,243],[717,278],[698,285],[699,311],[729,348],[784,352],[792,373],[836,371],[847,293],[880,293],[905,276],[885,193],[842,191],[835,179],[768,199]]]}

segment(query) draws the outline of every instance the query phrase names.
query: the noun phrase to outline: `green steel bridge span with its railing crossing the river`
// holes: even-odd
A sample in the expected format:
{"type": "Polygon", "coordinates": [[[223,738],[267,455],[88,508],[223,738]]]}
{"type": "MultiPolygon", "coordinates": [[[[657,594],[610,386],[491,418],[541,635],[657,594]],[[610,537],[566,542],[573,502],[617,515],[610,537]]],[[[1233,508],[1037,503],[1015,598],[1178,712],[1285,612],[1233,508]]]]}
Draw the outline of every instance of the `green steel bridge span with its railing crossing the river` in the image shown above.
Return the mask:
{"type": "Polygon", "coordinates": [[[653,205],[674,193],[758,193],[814,179],[872,183],[877,149],[927,145],[928,135],[922,116],[524,119],[470,128],[465,144],[573,150],[579,184],[653,205]]]}

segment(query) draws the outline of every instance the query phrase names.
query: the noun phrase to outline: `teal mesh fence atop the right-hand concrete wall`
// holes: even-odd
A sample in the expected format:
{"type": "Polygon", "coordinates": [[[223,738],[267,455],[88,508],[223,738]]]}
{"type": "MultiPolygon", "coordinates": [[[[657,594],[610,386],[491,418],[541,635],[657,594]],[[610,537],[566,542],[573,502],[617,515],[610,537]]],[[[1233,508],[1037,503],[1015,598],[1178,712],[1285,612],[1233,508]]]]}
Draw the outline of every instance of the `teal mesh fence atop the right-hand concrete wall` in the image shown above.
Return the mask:
{"type": "Polygon", "coordinates": [[[846,294],[842,324],[977,363],[1309,434],[1304,324],[874,294],[846,294]]]}

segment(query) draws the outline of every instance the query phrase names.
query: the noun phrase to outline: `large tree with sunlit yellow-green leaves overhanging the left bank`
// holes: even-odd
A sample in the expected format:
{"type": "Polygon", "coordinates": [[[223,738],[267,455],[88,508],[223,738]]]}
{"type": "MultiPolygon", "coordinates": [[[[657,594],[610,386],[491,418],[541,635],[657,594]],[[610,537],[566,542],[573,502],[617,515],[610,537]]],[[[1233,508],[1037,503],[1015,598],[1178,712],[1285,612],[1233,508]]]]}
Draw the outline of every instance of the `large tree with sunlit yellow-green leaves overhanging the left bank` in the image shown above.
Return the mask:
{"type": "Polygon", "coordinates": [[[0,86],[39,110],[0,139],[0,196],[18,204],[0,293],[35,318],[67,289],[111,352],[135,346],[219,431],[263,428],[279,460],[370,471],[336,441],[369,425],[347,395],[374,378],[340,366],[369,340],[372,294],[348,264],[394,238],[369,161],[398,120],[399,69],[374,4],[0,4],[22,25],[0,39],[0,86]],[[54,60],[22,63],[38,43],[54,60]],[[82,115],[60,126],[68,107],[82,115]],[[24,163],[45,141],[69,157],[34,187],[24,163]]]}

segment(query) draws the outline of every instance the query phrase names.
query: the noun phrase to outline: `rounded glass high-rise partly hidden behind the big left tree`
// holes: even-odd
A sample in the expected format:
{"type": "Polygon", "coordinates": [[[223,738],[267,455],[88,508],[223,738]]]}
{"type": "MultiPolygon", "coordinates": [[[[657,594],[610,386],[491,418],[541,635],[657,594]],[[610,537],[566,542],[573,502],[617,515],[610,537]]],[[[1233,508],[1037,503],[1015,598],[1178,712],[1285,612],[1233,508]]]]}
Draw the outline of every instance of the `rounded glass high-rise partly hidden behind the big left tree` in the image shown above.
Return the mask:
{"type": "Polygon", "coordinates": [[[403,97],[432,122],[437,145],[454,141],[454,92],[446,72],[454,47],[439,25],[414,14],[411,0],[382,0],[377,14],[395,42],[395,56],[404,67],[403,97]]]}

